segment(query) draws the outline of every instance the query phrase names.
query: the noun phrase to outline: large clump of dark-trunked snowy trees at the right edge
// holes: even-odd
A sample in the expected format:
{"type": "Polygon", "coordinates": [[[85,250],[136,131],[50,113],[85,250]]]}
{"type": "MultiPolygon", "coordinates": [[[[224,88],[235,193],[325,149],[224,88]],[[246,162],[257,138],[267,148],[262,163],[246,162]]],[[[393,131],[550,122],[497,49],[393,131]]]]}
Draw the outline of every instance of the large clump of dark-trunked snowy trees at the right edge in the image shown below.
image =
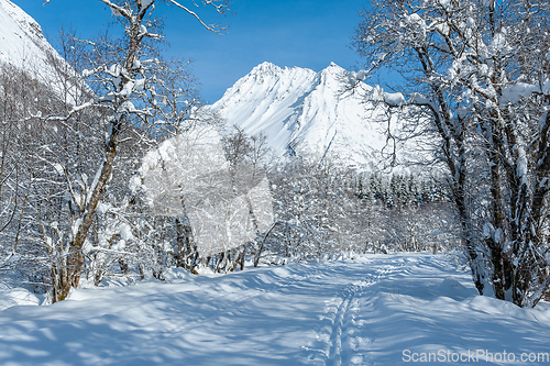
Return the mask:
{"type": "Polygon", "coordinates": [[[550,282],[548,2],[371,1],[362,16],[361,76],[394,67],[408,81],[372,97],[435,136],[480,293],[488,281],[534,307],[550,282]]]}

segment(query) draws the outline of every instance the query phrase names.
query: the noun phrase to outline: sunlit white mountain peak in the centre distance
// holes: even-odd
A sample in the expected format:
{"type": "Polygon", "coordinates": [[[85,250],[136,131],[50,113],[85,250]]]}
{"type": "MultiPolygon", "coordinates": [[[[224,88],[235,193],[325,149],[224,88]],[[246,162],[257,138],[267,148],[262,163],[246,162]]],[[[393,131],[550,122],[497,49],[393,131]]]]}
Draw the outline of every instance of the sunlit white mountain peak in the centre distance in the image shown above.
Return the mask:
{"type": "Polygon", "coordinates": [[[333,63],[320,73],[263,63],[229,88],[212,109],[249,134],[264,133],[277,156],[328,156],[366,168],[380,165],[385,126],[373,122],[373,112],[367,112],[373,104],[365,106],[364,95],[343,93],[348,75],[333,63]]]}

